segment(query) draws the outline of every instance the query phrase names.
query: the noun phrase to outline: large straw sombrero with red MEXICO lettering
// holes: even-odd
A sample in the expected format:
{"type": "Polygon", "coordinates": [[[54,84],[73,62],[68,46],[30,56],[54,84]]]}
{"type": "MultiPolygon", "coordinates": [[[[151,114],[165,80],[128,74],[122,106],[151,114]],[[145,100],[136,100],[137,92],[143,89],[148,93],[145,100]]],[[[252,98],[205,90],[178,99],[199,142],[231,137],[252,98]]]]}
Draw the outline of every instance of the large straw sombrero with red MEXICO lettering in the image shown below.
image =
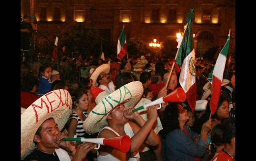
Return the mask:
{"type": "Polygon", "coordinates": [[[34,135],[41,124],[53,118],[61,130],[70,116],[72,99],[68,91],[51,91],[36,100],[21,115],[21,160],[30,154],[36,145],[34,135]]]}

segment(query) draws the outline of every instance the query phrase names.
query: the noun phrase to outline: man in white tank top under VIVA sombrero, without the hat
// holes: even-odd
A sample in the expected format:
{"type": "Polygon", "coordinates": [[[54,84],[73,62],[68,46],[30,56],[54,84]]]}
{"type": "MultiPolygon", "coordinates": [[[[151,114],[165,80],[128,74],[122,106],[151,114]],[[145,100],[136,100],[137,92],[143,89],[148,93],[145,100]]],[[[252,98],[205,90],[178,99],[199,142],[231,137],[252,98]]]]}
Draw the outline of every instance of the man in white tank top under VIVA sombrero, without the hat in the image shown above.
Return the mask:
{"type": "Polygon", "coordinates": [[[139,160],[138,148],[146,141],[148,145],[158,145],[158,136],[152,129],[157,119],[157,106],[148,108],[149,119],[146,122],[138,112],[133,113],[133,109],[126,109],[123,104],[118,105],[107,116],[108,126],[99,132],[98,138],[113,138],[123,135],[131,137],[131,150],[128,153],[122,153],[109,146],[101,146],[99,149],[98,161],[100,160],[139,160]],[[136,125],[129,119],[136,121],[136,125]],[[148,135],[149,134],[149,135],[148,135]],[[148,137],[147,137],[148,136],[148,137]]]}

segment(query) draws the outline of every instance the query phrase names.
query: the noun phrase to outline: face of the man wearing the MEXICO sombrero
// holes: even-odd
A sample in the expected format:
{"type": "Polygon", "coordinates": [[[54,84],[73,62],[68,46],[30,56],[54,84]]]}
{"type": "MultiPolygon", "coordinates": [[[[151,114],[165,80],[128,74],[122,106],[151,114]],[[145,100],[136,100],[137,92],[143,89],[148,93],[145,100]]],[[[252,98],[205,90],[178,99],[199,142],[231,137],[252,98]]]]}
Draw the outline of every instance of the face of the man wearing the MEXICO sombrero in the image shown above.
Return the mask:
{"type": "Polygon", "coordinates": [[[47,120],[42,124],[41,137],[38,137],[39,142],[46,148],[59,147],[59,145],[56,144],[53,140],[56,139],[56,136],[60,133],[61,131],[58,127],[58,124],[53,119],[47,120]]]}

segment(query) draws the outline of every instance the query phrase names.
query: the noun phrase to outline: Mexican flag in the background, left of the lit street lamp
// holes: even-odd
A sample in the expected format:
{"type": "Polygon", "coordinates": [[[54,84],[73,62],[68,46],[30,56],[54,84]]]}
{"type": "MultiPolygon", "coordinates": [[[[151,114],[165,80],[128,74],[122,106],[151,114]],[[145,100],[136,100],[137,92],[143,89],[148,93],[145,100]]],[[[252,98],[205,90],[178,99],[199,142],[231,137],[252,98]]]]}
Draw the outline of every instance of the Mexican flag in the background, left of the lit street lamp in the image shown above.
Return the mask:
{"type": "Polygon", "coordinates": [[[117,42],[117,58],[122,60],[126,54],[127,54],[127,44],[126,44],[125,31],[123,28],[117,42]]]}

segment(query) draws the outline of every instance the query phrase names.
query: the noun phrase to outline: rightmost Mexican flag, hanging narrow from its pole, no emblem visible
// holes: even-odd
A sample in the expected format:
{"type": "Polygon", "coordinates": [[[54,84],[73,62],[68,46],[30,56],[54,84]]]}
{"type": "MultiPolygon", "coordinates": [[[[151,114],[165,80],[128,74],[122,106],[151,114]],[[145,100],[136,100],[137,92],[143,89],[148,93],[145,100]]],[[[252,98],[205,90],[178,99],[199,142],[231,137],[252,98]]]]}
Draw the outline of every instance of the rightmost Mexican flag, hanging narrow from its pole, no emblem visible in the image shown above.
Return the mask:
{"type": "Polygon", "coordinates": [[[220,88],[221,88],[221,82],[223,79],[223,73],[224,73],[226,60],[227,60],[229,42],[230,42],[230,30],[227,37],[227,42],[225,43],[224,47],[220,51],[217,61],[215,63],[215,66],[208,77],[209,82],[213,86],[213,91],[212,91],[211,101],[210,101],[210,109],[211,109],[212,115],[217,111],[217,107],[219,103],[220,88]]]}

